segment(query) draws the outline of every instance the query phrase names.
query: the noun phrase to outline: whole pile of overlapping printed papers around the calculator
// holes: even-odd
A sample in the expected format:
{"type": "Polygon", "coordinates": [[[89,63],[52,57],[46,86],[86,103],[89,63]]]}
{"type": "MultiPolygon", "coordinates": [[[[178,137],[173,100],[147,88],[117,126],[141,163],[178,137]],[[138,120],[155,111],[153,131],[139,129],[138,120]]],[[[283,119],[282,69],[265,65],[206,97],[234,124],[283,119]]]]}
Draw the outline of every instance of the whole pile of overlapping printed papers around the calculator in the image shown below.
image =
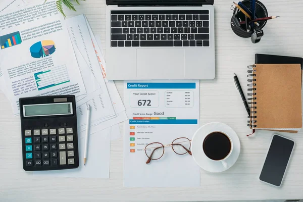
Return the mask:
{"type": "Polygon", "coordinates": [[[118,124],[127,120],[124,105],[115,83],[105,76],[103,52],[86,17],[65,20],[54,9],[56,1],[43,3],[22,6],[21,0],[6,0],[0,4],[0,19],[4,19],[0,31],[0,90],[10,99],[15,116],[20,114],[20,97],[74,94],[80,168],[35,174],[109,178],[110,141],[121,137],[118,124]],[[26,12],[33,10],[37,12],[26,12]],[[47,15],[37,16],[39,10],[48,11],[47,15]],[[33,20],[11,23],[5,16],[13,13],[33,20]],[[84,167],[81,161],[87,105],[91,106],[90,137],[84,167]]]}

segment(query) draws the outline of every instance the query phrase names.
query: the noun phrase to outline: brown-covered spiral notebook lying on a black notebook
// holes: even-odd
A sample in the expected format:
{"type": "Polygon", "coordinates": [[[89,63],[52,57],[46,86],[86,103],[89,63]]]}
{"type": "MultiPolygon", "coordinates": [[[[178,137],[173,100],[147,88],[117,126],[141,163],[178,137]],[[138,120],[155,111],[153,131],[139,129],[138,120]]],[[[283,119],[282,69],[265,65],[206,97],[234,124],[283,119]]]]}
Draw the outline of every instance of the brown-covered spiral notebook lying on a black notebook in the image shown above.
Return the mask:
{"type": "Polygon", "coordinates": [[[248,66],[249,127],[298,132],[302,127],[301,65],[248,66]]]}

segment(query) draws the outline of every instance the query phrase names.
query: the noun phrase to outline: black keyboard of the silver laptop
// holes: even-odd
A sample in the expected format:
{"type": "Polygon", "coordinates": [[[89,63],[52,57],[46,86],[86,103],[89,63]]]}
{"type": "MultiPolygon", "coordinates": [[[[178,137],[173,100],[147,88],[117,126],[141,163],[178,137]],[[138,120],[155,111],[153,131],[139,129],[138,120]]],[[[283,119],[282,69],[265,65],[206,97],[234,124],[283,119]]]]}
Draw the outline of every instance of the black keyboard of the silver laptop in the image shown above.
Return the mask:
{"type": "Polygon", "coordinates": [[[111,11],[111,46],[210,46],[209,10],[111,11]]]}

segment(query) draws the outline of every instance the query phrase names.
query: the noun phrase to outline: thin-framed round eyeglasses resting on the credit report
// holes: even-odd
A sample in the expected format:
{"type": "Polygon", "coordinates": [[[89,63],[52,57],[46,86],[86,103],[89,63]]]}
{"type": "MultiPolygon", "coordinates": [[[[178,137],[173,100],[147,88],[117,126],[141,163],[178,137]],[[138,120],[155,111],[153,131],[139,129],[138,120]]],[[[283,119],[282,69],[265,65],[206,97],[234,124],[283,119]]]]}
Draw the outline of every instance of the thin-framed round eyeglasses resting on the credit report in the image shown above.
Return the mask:
{"type": "Polygon", "coordinates": [[[153,142],[147,144],[144,148],[145,154],[148,157],[146,164],[149,164],[151,160],[158,160],[164,155],[164,147],[172,146],[173,151],[177,155],[185,155],[188,153],[191,155],[190,146],[191,140],[186,137],[180,137],[175,139],[171,144],[163,145],[160,142],[153,142]]]}

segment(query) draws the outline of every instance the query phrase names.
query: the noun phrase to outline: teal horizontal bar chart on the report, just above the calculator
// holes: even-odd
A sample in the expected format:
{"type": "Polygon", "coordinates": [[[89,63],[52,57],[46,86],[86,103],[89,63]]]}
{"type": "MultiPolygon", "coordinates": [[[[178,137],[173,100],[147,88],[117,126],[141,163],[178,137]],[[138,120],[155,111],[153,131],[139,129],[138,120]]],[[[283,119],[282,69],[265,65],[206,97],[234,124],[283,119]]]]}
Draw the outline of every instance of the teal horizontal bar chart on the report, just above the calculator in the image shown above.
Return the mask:
{"type": "Polygon", "coordinates": [[[70,81],[65,65],[34,74],[38,90],[54,87],[70,81]]]}

